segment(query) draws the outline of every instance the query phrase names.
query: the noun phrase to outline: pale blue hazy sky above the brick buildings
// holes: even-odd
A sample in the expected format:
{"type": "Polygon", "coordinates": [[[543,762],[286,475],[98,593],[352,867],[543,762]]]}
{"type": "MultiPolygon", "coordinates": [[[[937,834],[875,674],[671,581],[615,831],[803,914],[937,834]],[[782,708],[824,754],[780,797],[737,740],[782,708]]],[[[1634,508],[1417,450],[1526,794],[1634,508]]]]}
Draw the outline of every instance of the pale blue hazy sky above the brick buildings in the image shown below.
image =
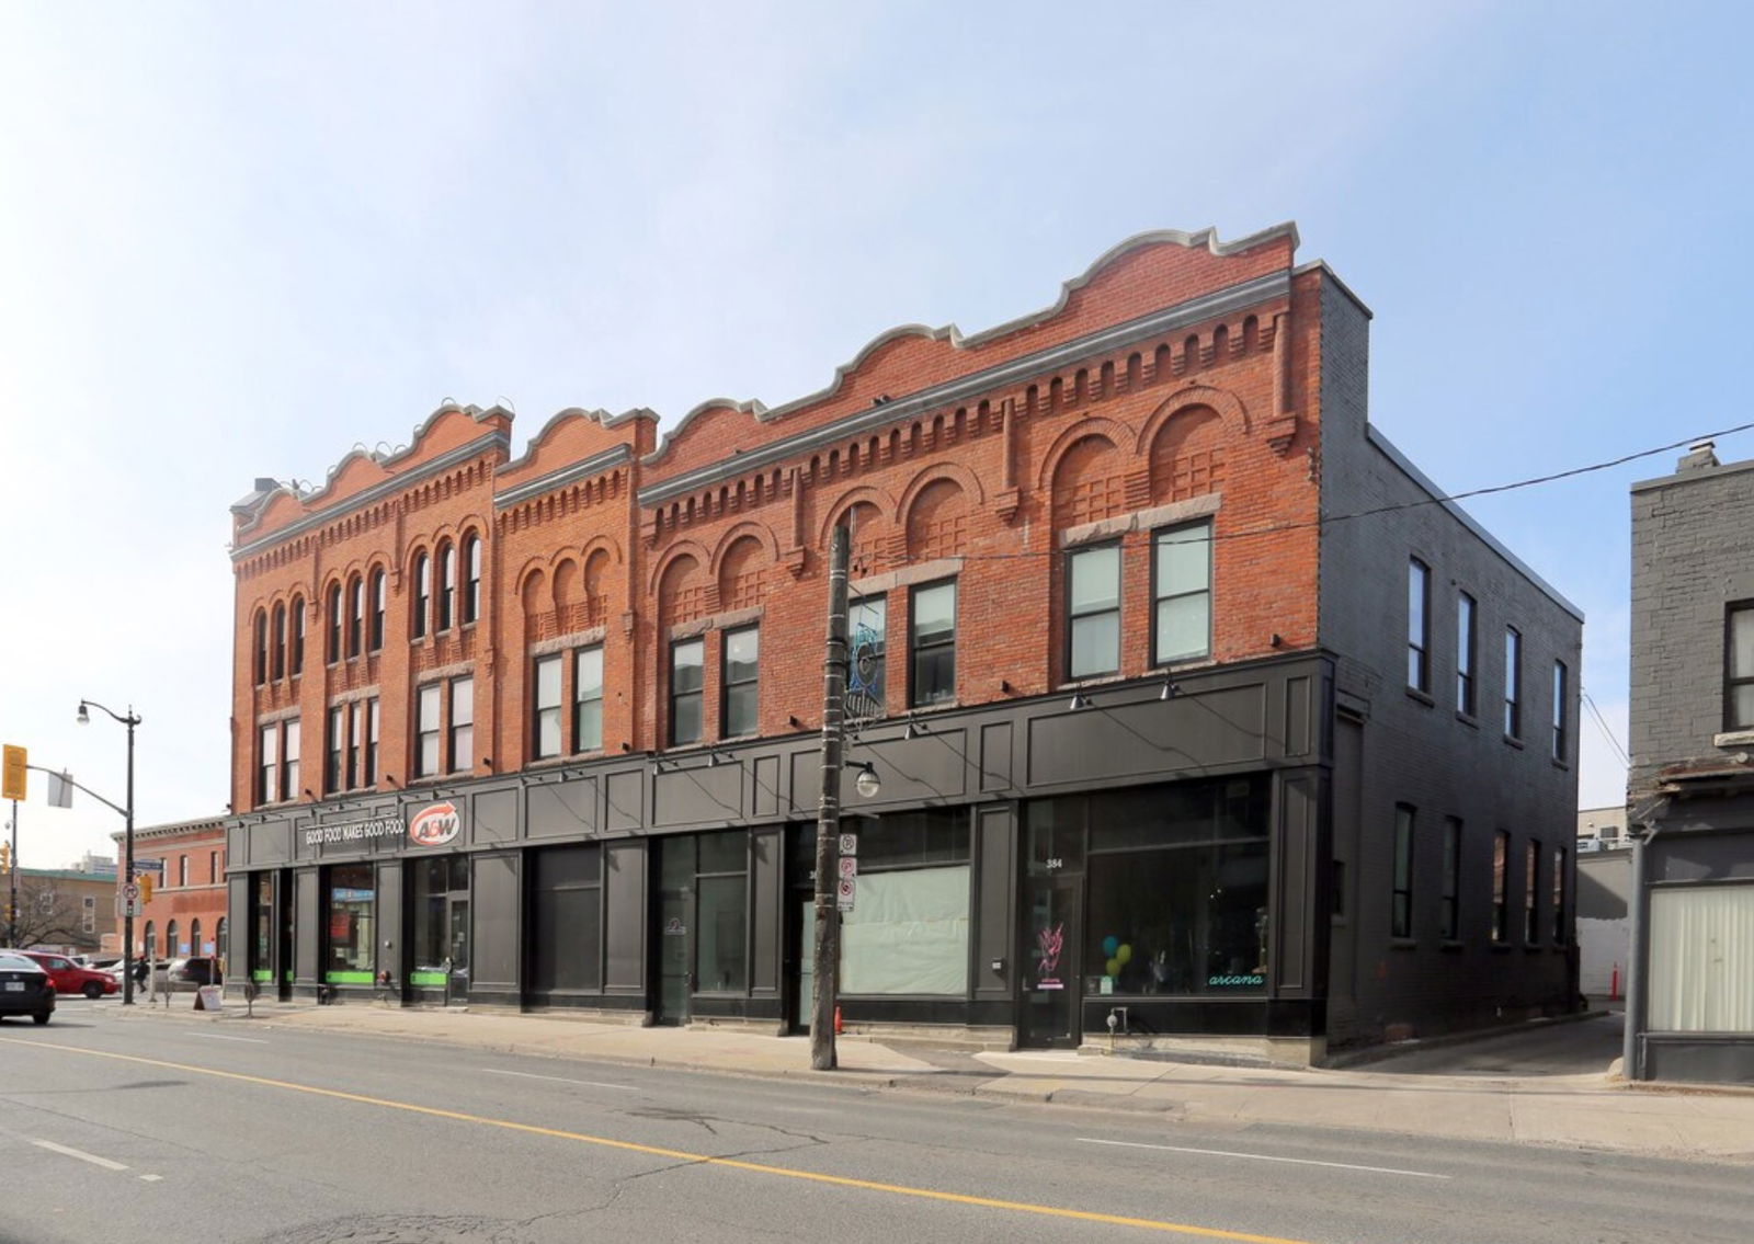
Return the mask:
{"type": "MultiPolygon", "coordinates": [[[[1733,2],[0,5],[0,740],[121,804],[123,728],[74,712],[132,709],[137,825],[219,814],[258,475],[446,398],[512,405],[514,454],[565,407],[781,405],[1144,230],[1296,221],[1449,491],[1749,423],[1750,35],[1733,2]]],[[[1624,797],[1628,488],[1679,456],[1468,502],[1587,616],[1584,807],[1624,797]]],[[[21,858],[119,828],[33,774],[21,858]]]]}

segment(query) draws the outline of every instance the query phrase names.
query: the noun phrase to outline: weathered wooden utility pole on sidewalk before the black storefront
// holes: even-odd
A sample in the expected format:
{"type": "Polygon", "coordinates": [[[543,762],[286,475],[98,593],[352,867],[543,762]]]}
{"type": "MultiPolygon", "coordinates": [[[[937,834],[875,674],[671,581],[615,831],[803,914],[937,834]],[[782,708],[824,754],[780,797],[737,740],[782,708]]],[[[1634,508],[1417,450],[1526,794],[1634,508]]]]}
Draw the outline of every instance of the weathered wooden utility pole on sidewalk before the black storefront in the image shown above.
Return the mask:
{"type": "Polygon", "coordinates": [[[810,1069],[835,1069],[835,993],[840,988],[840,746],[847,691],[847,528],[828,544],[828,653],[823,658],[823,800],[816,816],[816,998],[810,1009],[810,1069]]]}

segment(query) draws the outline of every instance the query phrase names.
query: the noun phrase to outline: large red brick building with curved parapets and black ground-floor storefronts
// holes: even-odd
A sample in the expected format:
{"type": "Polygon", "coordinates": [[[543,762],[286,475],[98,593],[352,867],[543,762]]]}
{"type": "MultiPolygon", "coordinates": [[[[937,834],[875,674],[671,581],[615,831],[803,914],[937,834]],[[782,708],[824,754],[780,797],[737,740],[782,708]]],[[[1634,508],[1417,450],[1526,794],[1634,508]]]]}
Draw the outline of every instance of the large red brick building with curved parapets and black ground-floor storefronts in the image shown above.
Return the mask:
{"type": "Polygon", "coordinates": [[[1142,235],[1040,312],[893,330],[821,393],[661,440],[649,411],[567,411],[514,456],[510,412],[446,405],[319,490],[258,481],[233,507],[251,972],[796,1026],[845,523],[849,1018],[1065,1044],[1123,1009],[1138,1040],[1303,1060],[1568,1005],[1565,946],[1510,981],[1491,937],[1424,951],[1468,946],[1456,877],[1491,872],[1494,825],[1575,802],[1572,753],[1479,742],[1482,688],[1544,684],[1482,677],[1480,625],[1575,670],[1579,616],[1366,425],[1368,311],[1294,247],[1142,235]],[[1419,807],[1468,828],[1415,856],[1419,807]]]}

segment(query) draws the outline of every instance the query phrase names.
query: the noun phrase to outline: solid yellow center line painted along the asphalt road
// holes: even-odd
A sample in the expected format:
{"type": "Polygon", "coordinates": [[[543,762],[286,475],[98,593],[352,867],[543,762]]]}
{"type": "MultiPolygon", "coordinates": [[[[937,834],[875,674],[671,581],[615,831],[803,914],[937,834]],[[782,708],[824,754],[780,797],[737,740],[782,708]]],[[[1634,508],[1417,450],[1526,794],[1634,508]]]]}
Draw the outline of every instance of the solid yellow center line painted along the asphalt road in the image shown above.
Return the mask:
{"type": "Polygon", "coordinates": [[[688,1153],[686,1149],[667,1149],[656,1144],[638,1144],[635,1140],[614,1140],[603,1135],[588,1135],[584,1132],[567,1132],[563,1128],[544,1128],[535,1123],[517,1123],[514,1119],[493,1119],[484,1114],[467,1114],[463,1111],[446,1111],[437,1105],[416,1105],[414,1102],[393,1102],[386,1097],[367,1097],[363,1093],[346,1093],[339,1088],[321,1088],[317,1084],[298,1084],[286,1079],[270,1079],[267,1076],[246,1076],[244,1072],[226,1072],[214,1067],[191,1067],[189,1063],[172,1063],[161,1058],[142,1058],[140,1055],[116,1055],[107,1049],[82,1049],[79,1046],[58,1046],[51,1040],[26,1040],[19,1037],[0,1037],[0,1042],[9,1046],[30,1046],[35,1049],[60,1049],[68,1055],[88,1055],[91,1058],[112,1058],[121,1063],[139,1063],[142,1067],[161,1067],[167,1070],[189,1072],[191,1076],[212,1076],[216,1079],[239,1081],[242,1084],[263,1084],[267,1088],[284,1088],[291,1093],[310,1093],[314,1097],[332,1097],[339,1102],[358,1102],[360,1105],[377,1105],[386,1111],[407,1111],[409,1114],[424,1114],[435,1119],[453,1119],[456,1123],[477,1123],[489,1128],[503,1128],[507,1132],[523,1132],[526,1135],[545,1135],[558,1140],[577,1140],[581,1144],[595,1144],[605,1149],[624,1149],[626,1153],[644,1153],[652,1158],[674,1158],[677,1162],[693,1162],[703,1167],[728,1167],[731,1170],[749,1170],[759,1176],[779,1176],[782,1179],[809,1179],[817,1184],[833,1184],[837,1188],[859,1188],[863,1191],[884,1191],[895,1197],[916,1197],[919,1200],[942,1200],[952,1205],[979,1205],[980,1209],[1005,1209],[1017,1214],[1037,1214],[1042,1218],[1070,1218],[1080,1223],[1107,1223],[1110,1226],[1138,1226],[1147,1232],[1170,1232],[1177,1235],[1194,1235],[1209,1240],[1242,1240],[1244,1244],[1308,1244],[1308,1240],[1293,1240],[1282,1235],[1251,1235],[1249,1232],[1226,1232],[1217,1226],[1193,1226],[1189,1223],[1166,1223],[1154,1218],[1128,1218],[1124,1214],[1096,1214],[1086,1209],[1063,1209],[1059,1205],[1033,1205],[1026,1200],[1000,1200],[996,1197],[970,1197],[959,1191],[938,1191],[935,1188],[912,1188],[909,1184],[886,1184],[873,1179],[852,1179],[849,1176],[824,1176],[814,1170],[793,1170],[791,1167],[770,1167],[763,1162],[744,1162],[740,1158],[716,1158],[710,1153],[688,1153]]]}

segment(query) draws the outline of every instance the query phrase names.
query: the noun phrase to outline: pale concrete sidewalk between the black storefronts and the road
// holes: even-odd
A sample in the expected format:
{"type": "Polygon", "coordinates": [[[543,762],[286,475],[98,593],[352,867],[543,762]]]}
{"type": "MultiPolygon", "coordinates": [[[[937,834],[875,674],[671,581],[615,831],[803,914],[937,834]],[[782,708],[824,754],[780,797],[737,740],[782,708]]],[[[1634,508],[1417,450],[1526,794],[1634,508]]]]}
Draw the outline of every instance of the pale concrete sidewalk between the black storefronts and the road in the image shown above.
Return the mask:
{"type": "MultiPolygon", "coordinates": [[[[740,1026],[640,1028],[554,1014],[261,1002],[251,1019],[230,1002],[221,1012],[191,1007],[193,1000],[179,995],[170,1011],[118,1007],[118,1014],[263,1030],[323,1028],[549,1058],[1142,1111],[1163,1116],[1166,1125],[1331,1126],[1754,1162],[1754,1091],[1633,1088],[1610,1076],[1607,1065],[1573,1074],[1408,1074],[1386,1070],[1391,1060],[1363,1069],[1280,1070],[1072,1051],[970,1053],[840,1037],[835,1042],[840,1069],[812,1072],[809,1039],[740,1026]]],[[[1514,1060],[1500,1055],[1479,1065],[1514,1067],[1514,1060]]]]}

